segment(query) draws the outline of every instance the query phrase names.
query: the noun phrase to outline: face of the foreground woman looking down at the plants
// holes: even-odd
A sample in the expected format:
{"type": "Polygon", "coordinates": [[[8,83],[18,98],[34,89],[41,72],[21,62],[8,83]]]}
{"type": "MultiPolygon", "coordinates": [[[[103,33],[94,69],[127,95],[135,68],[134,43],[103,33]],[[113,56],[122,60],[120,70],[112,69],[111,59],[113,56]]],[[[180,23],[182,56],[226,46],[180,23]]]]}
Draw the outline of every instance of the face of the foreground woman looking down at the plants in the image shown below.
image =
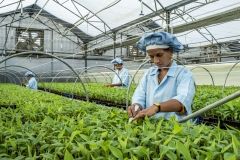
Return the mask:
{"type": "Polygon", "coordinates": [[[151,49],[147,51],[151,61],[155,63],[158,68],[170,67],[172,62],[172,49],[151,49]]]}

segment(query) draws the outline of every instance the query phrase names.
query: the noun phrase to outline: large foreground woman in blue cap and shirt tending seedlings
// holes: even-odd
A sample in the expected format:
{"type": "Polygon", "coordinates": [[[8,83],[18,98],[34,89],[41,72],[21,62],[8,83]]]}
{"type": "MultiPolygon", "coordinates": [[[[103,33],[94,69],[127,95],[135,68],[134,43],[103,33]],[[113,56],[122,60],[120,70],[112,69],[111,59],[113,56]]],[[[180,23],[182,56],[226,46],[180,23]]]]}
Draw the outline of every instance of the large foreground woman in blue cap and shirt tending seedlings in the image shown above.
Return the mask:
{"type": "Polygon", "coordinates": [[[172,60],[174,52],[183,49],[177,38],[166,32],[145,34],[137,47],[147,52],[156,66],[148,69],[141,79],[128,107],[133,120],[145,116],[170,117],[177,120],[192,113],[195,93],[191,72],[172,60]],[[138,107],[137,107],[138,106],[138,107]]]}

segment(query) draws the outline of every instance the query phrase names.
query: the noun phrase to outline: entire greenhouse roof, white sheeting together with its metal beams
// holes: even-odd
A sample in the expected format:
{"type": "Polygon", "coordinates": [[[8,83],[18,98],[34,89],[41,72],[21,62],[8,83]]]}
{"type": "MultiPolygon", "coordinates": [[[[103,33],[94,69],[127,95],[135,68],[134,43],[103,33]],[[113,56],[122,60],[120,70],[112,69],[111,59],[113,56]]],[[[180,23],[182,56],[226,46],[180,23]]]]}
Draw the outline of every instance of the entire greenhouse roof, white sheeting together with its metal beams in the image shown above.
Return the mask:
{"type": "Polygon", "coordinates": [[[123,29],[151,20],[154,23],[146,32],[169,27],[183,44],[195,47],[238,40],[239,7],[239,0],[2,0],[0,16],[40,14],[67,27],[66,32],[83,42],[113,38],[123,29]]]}

